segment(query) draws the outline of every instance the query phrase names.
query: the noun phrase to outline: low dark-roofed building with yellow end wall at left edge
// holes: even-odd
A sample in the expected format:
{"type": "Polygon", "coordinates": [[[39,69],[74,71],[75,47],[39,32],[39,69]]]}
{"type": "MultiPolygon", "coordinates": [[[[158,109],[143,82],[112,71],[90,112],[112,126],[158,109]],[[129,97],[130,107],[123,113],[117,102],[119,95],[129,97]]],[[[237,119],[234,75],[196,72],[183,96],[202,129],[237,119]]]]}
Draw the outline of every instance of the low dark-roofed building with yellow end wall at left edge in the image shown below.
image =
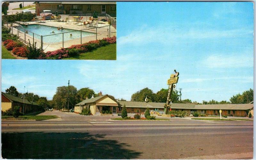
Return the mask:
{"type": "Polygon", "coordinates": [[[26,99],[24,99],[23,103],[22,98],[2,92],[1,110],[6,111],[10,108],[13,109],[16,106],[20,108],[20,112],[23,112],[24,107],[24,113],[36,112],[42,109],[42,107],[37,105],[36,103],[31,103],[26,99]]]}

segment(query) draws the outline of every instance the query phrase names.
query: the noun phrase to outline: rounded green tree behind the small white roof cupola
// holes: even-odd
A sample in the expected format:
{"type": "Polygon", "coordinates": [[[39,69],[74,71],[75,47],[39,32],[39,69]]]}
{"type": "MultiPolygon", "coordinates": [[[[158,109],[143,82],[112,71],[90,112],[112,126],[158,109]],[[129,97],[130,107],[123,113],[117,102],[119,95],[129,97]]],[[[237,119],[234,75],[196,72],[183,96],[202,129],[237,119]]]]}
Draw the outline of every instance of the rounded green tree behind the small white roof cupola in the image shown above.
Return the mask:
{"type": "Polygon", "coordinates": [[[141,89],[140,91],[132,94],[131,101],[144,102],[146,96],[148,98],[148,102],[154,102],[155,94],[148,88],[141,89]]]}

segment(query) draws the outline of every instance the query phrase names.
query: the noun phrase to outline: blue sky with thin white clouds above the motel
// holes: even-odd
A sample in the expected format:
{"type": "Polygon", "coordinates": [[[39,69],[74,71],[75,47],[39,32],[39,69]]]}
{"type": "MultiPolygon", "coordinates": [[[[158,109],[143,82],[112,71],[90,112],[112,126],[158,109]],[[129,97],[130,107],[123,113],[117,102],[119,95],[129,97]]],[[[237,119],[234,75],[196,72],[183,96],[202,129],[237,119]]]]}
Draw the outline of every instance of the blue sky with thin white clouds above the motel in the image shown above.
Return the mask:
{"type": "Polygon", "coordinates": [[[117,2],[117,60],[2,60],[2,91],[15,86],[52,99],[59,86],[131,100],[168,88],[181,99],[229,101],[253,89],[252,2],[117,2]]]}

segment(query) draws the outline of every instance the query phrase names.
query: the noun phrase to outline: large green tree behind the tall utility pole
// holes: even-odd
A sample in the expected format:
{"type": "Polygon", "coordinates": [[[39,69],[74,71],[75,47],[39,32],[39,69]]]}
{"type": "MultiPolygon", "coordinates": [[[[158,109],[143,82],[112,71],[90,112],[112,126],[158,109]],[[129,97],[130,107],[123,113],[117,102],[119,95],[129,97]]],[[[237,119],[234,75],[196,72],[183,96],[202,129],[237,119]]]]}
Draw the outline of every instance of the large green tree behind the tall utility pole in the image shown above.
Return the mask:
{"type": "MultiPolygon", "coordinates": [[[[68,108],[68,86],[57,87],[56,94],[53,95],[53,108],[59,110],[68,108]]],[[[77,90],[74,86],[69,86],[69,108],[73,108],[76,103],[80,102],[77,96],[77,90]]]]}

